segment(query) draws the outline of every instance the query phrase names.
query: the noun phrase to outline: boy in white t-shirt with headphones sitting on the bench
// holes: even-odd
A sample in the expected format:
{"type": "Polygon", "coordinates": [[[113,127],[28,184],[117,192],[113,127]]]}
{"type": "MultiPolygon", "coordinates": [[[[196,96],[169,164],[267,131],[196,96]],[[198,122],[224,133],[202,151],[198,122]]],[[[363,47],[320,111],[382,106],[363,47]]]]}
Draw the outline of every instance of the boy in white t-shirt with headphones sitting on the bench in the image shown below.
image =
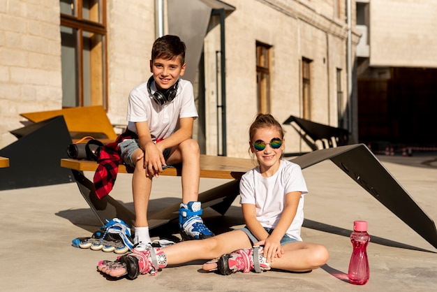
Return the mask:
{"type": "MultiPolygon", "coordinates": [[[[134,249],[137,250],[145,250],[151,242],[147,207],[152,180],[163,172],[163,168],[178,163],[182,163],[179,233],[184,240],[214,236],[200,218],[200,149],[198,143],[191,138],[193,121],[198,117],[198,112],[194,103],[193,85],[179,78],[184,75],[186,67],[185,50],[186,45],[178,36],[163,36],[154,42],[150,61],[153,75],[129,94],[128,127],[116,141],[114,152],[120,154],[123,163],[135,168],[132,188],[135,209],[134,249]]],[[[101,160],[110,150],[113,149],[103,147],[101,160]]],[[[102,163],[99,168],[103,168],[102,163]]],[[[103,187],[99,168],[94,184],[97,196],[101,197],[105,194],[99,194],[103,187]]]]}

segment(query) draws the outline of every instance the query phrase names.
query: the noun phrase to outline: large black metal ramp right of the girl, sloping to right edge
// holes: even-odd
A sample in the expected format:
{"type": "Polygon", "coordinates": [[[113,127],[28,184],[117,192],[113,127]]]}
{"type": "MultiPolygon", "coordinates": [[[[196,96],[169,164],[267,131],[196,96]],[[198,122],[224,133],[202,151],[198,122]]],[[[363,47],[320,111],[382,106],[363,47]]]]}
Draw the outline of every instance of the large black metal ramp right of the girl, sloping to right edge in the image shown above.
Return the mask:
{"type": "Polygon", "coordinates": [[[376,200],[437,248],[434,221],[417,205],[405,189],[364,144],[320,149],[290,161],[304,169],[330,159],[376,200]]]}

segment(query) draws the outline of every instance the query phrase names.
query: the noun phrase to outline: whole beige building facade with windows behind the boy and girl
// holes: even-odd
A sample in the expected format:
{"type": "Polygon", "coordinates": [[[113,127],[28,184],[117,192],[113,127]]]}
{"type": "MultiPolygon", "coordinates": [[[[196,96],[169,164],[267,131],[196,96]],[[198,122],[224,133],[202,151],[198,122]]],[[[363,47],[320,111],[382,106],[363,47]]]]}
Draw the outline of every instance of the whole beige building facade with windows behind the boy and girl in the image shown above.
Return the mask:
{"type": "MultiPolygon", "coordinates": [[[[200,113],[195,138],[203,153],[247,157],[249,125],[258,112],[270,112],[281,123],[294,115],[339,126],[357,140],[353,87],[360,32],[355,29],[355,1],[80,3],[90,20],[94,6],[103,11],[98,24],[89,27],[103,36],[102,47],[96,45],[103,68],[96,74],[89,66],[91,73],[85,72],[87,56],[93,58],[94,47],[89,49],[83,68],[78,68],[84,76],[79,88],[85,92],[90,87],[91,97],[83,94],[75,106],[104,105],[117,131],[126,125],[129,92],[150,76],[155,38],[178,34],[187,44],[184,78],[195,87],[200,113]],[[88,83],[86,74],[92,76],[88,83]],[[94,90],[96,75],[103,80],[98,90],[94,90]],[[93,91],[100,97],[93,97],[93,91]]],[[[16,140],[9,131],[27,124],[20,113],[66,106],[66,96],[71,94],[67,73],[77,71],[74,62],[66,59],[67,27],[74,30],[75,19],[62,16],[61,11],[74,11],[75,5],[77,0],[1,1],[0,147],[16,140]]],[[[82,37],[92,40],[90,35],[82,37]]],[[[286,152],[309,151],[292,126],[284,129],[286,152]]]]}

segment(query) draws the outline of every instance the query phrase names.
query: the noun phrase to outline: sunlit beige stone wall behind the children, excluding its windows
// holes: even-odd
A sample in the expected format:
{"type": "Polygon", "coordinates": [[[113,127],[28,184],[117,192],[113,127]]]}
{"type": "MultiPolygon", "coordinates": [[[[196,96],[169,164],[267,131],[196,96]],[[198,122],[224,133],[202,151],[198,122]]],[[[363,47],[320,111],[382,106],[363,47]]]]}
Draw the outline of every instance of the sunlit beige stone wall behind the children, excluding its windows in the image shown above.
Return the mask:
{"type": "MultiPolygon", "coordinates": [[[[305,57],[312,60],[312,119],[337,126],[336,68],[342,70],[346,94],[346,1],[339,1],[339,15],[334,3],[327,0],[225,2],[235,7],[225,19],[228,156],[247,156],[242,141],[247,140],[257,113],[257,41],[272,45],[271,112],[279,122],[290,115],[302,116],[301,61],[305,57]]],[[[126,124],[129,92],[151,74],[154,3],[107,1],[108,117],[112,124],[121,125],[119,131],[126,124]]],[[[183,25],[184,19],[180,22],[183,25]]],[[[59,1],[0,1],[0,24],[0,147],[4,147],[15,140],[9,131],[26,121],[21,112],[62,106],[59,1]]],[[[218,26],[209,29],[204,46],[207,154],[216,154],[217,148],[215,62],[219,40],[218,26]]],[[[292,127],[284,128],[286,152],[308,150],[292,127]]]]}

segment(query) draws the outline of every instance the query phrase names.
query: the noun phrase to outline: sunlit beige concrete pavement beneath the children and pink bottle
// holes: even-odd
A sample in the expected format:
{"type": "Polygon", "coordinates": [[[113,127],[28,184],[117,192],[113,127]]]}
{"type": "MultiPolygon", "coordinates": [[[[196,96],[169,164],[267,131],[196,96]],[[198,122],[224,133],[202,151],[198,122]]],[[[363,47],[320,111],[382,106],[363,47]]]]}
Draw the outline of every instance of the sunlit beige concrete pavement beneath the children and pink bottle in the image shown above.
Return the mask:
{"type": "MultiPolygon", "coordinates": [[[[437,219],[436,156],[378,156],[385,168],[431,219],[437,219]]],[[[86,173],[90,177],[93,173],[86,173]]],[[[0,191],[3,224],[1,291],[437,291],[437,254],[431,244],[350,180],[331,161],[304,169],[309,187],[302,238],[325,244],[327,265],[309,273],[269,271],[222,276],[200,270],[203,261],[165,268],[158,275],[113,281],[96,272],[96,263],[116,254],[71,246],[100,224],[75,183],[0,191]],[[364,286],[347,281],[354,220],[369,224],[371,277],[364,286]]],[[[1,178],[0,178],[1,179],[1,178]]],[[[201,191],[225,180],[202,179],[201,191]]],[[[178,177],[154,182],[151,209],[163,199],[179,200],[178,177]]],[[[117,177],[112,196],[132,207],[131,175],[117,177]]],[[[238,198],[222,217],[207,208],[202,216],[214,232],[244,224],[238,198]]],[[[152,232],[177,240],[177,224],[152,232]]]]}

